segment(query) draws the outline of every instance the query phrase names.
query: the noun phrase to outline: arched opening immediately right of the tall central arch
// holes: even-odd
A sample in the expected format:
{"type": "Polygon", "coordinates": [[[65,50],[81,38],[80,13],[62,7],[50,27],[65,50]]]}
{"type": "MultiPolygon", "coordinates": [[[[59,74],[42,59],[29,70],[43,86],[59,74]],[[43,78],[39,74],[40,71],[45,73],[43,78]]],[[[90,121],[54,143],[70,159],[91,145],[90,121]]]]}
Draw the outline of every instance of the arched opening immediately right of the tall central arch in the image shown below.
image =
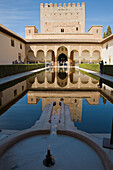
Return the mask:
{"type": "Polygon", "coordinates": [[[70,54],[70,65],[75,66],[79,64],[79,52],[77,50],[71,51],[70,54]]]}

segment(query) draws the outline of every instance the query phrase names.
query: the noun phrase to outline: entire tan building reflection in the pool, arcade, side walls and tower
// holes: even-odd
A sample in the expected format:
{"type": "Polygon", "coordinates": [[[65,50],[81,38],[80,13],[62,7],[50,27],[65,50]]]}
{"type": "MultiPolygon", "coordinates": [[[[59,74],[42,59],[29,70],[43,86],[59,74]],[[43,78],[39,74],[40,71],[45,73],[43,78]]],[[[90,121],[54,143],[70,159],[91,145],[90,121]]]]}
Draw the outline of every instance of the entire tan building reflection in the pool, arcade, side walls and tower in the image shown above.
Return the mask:
{"type": "Polygon", "coordinates": [[[42,98],[44,109],[44,106],[52,101],[56,101],[59,106],[58,103],[62,100],[70,106],[72,120],[80,122],[84,98],[89,105],[98,105],[100,92],[104,96],[104,103],[109,100],[113,104],[113,89],[106,84],[103,84],[101,89],[97,85],[97,80],[75,69],[69,70],[69,74],[66,68],[59,69],[58,72],[53,69],[46,70],[1,91],[0,113],[3,108],[6,107],[7,110],[15,104],[28,91],[28,104],[37,104],[42,98]]]}

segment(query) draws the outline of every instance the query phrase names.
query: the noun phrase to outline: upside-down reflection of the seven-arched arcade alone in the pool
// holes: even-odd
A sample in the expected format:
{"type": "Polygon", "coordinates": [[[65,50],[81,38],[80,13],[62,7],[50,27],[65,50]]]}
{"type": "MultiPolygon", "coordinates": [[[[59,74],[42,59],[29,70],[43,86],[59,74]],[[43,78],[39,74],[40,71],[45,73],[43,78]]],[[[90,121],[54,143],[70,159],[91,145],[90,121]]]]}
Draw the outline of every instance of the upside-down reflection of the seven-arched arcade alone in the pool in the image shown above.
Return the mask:
{"type": "Polygon", "coordinates": [[[30,89],[97,89],[98,81],[75,69],[48,69],[38,73],[29,84],[30,89]]]}

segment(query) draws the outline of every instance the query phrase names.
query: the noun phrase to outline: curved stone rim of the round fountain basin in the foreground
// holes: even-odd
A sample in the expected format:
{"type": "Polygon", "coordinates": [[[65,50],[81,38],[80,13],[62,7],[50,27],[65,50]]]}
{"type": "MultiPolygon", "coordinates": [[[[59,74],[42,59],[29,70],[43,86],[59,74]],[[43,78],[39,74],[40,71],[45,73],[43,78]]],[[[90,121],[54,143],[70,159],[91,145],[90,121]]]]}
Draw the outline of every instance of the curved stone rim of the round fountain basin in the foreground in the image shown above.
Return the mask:
{"type": "MultiPolygon", "coordinates": [[[[50,134],[50,129],[45,130],[37,130],[37,129],[27,129],[23,130],[21,132],[18,132],[16,134],[13,134],[7,138],[5,138],[5,141],[0,144],[0,157],[3,156],[5,152],[7,152],[8,149],[10,149],[12,146],[14,146],[16,143],[18,143],[21,140],[24,140],[26,138],[37,136],[37,135],[47,135],[50,134]]],[[[66,135],[70,137],[74,137],[90,146],[100,157],[104,167],[106,170],[113,169],[113,165],[108,157],[108,155],[105,153],[105,151],[93,140],[91,140],[89,137],[87,137],[85,134],[81,134],[79,132],[70,131],[70,130],[58,130],[58,135],[66,135]]]]}

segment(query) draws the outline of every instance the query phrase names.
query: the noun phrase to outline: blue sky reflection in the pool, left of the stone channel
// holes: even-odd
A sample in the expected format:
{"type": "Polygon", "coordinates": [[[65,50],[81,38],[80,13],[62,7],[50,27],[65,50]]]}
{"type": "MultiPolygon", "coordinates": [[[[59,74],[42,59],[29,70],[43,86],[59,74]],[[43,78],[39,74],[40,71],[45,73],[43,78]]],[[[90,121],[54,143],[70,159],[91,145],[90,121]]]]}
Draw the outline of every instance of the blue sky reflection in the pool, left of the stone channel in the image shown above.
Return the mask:
{"type": "Polygon", "coordinates": [[[29,105],[28,97],[25,95],[0,116],[0,129],[23,130],[30,128],[39,120],[41,113],[42,99],[36,105],[29,105]]]}

